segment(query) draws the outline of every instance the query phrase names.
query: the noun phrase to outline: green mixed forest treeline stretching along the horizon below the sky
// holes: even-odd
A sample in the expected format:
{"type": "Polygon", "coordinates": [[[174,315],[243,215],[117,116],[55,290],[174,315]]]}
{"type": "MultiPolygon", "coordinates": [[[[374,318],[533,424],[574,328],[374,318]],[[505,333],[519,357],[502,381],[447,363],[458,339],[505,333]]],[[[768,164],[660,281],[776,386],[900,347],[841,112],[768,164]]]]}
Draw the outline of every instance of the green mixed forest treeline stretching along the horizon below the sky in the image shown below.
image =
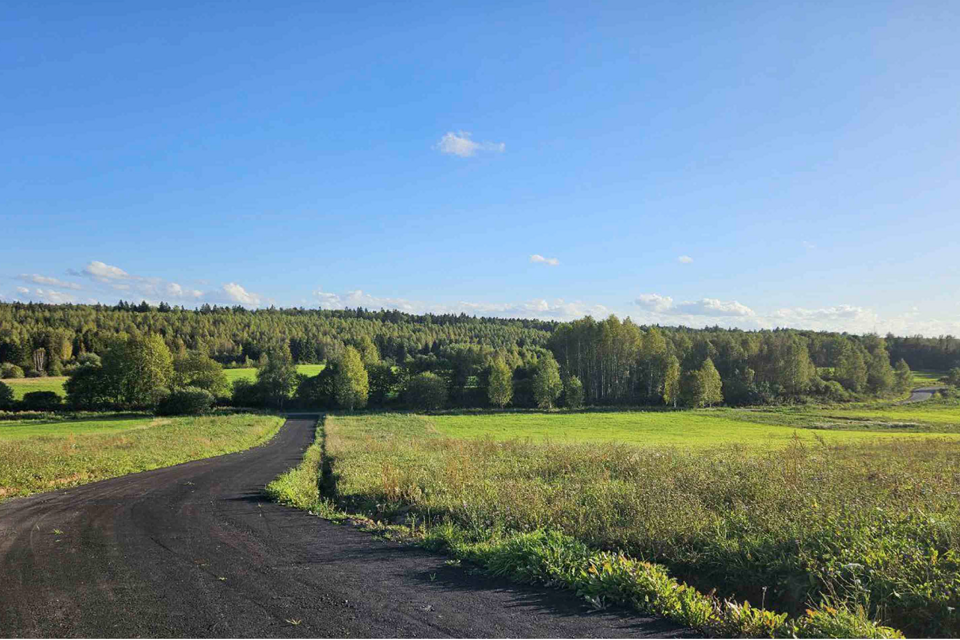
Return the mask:
{"type": "MultiPolygon", "coordinates": [[[[214,366],[257,365],[262,373],[271,358],[276,366],[327,363],[310,379],[281,372],[286,380],[279,392],[243,384],[209,390],[247,405],[843,401],[902,393],[912,383],[911,367],[960,364],[960,342],[950,336],[648,327],[616,316],[560,323],[365,309],[0,304],[5,377],[76,374],[90,368],[88,354],[117,354],[119,344],[152,337],[169,352],[171,367],[202,359],[214,366]],[[347,390],[351,384],[354,395],[347,390]]],[[[85,375],[90,378],[90,371],[85,375]]],[[[178,387],[173,374],[161,382],[178,387]]],[[[112,404],[136,404],[124,398],[117,392],[112,404]]]]}

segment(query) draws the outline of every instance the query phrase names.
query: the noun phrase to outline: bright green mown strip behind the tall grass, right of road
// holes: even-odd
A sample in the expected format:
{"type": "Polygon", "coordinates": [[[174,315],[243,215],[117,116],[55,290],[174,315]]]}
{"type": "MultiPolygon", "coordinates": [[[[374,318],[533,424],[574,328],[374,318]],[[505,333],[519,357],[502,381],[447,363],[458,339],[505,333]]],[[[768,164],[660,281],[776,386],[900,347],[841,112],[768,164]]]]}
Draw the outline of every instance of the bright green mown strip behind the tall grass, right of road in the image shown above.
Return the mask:
{"type": "MultiPolygon", "coordinates": [[[[805,419],[794,424],[771,424],[779,418],[775,412],[745,412],[738,410],[701,411],[633,411],[585,413],[497,413],[474,415],[420,416],[428,429],[453,438],[493,438],[495,440],[530,439],[553,442],[624,442],[640,445],[678,445],[710,447],[722,444],[741,444],[751,447],[770,447],[789,444],[794,438],[814,441],[817,437],[827,442],[848,442],[883,438],[945,437],[960,439],[960,433],[929,433],[910,427],[881,427],[880,421],[891,423],[923,422],[931,427],[960,427],[960,407],[913,411],[851,411],[834,412],[842,420],[866,419],[860,429],[854,425],[843,428],[812,429],[818,422],[830,418],[829,412],[801,414],[805,419]],[[922,420],[921,420],[922,418],[922,420]],[[807,422],[804,425],[803,422],[807,422]]],[[[378,420],[380,418],[371,418],[378,420]]]]}

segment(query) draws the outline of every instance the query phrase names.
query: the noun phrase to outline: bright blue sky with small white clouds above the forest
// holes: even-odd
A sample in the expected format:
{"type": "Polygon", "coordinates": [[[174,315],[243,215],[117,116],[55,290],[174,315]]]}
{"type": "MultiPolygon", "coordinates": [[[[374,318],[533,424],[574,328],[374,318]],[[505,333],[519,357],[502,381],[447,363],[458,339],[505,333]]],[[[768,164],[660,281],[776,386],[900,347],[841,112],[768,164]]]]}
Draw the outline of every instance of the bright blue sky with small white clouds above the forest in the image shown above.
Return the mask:
{"type": "Polygon", "coordinates": [[[13,1],[0,30],[5,300],[960,334],[954,2],[13,1]]]}

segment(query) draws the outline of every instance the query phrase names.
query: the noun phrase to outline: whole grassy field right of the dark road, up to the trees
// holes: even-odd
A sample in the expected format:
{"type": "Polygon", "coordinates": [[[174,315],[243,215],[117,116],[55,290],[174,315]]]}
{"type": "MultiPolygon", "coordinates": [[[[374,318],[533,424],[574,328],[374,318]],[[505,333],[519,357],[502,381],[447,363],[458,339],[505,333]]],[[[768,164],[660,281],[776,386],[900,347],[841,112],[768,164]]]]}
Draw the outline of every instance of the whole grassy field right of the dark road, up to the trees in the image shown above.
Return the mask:
{"type": "Polygon", "coordinates": [[[291,475],[278,492],[317,512],[412,522],[422,543],[491,571],[567,584],[711,633],[871,635],[861,625],[869,614],[911,634],[956,636],[958,418],[956,402],[334,416],[323,448],[298,472],[313,480],[298,485],[291,475]],[[834,422],[844,425],[803,426],[834,422]],[[670,599],[686,593],[678,586],[644,591],[661,584],[657,567],[700,593],[765,601],[794,621],[782,624],[800,627],[769,617],[766,627],[745,627],[742,607],[722,599],[693,615],[693,605],[670,599]],[[839,626],[811,632],[808,608],[855,628],[833,620],[839,626]]]}

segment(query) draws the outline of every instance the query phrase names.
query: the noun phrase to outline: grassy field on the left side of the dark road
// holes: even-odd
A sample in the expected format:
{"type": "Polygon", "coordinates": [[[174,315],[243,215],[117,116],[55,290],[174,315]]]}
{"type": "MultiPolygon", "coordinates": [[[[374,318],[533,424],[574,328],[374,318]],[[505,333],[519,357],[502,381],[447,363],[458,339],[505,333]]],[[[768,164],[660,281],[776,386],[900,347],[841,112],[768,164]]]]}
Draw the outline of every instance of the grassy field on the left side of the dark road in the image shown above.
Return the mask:
{"type": "Polygon", "coordinates": [[[282,424],[255,414],[0,423],[0,501],[241,451],[282,424]]]}

